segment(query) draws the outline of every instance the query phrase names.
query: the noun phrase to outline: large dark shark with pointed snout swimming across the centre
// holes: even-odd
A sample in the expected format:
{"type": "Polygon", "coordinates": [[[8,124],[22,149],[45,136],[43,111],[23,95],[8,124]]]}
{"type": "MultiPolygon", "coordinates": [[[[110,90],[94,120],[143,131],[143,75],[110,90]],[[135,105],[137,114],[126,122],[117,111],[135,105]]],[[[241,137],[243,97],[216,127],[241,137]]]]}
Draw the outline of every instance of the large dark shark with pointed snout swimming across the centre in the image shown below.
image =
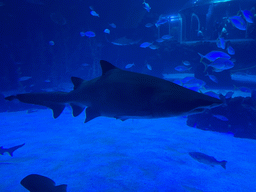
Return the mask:
{"type": "Polygon", "coordinates": [[[25,93],[8,96],[24,103],[51,108],[57,118],[70,104],[73,116],[86,108],[88,122],[99,116],[126,120],[162,118],[203,112],[222,101],[157,77],[121,70],[101,60],[102,75],[90,81],[71,77],[70,92],[25,93]]]}

